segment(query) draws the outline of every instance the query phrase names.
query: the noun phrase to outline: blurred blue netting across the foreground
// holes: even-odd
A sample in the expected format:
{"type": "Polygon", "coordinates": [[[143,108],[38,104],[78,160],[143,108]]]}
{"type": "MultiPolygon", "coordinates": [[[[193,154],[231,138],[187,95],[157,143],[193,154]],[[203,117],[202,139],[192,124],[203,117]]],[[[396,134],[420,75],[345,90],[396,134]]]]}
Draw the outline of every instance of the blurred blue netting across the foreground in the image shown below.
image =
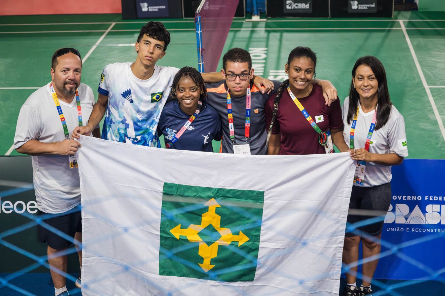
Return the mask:
{"type": "MultiPolygon", "coordinates": [[[[0,192],[0,196],[2,197],[3,200],[13,200],[11,197],[13,197],[14,194],[23,192],[25,190],[32,190],[32,186],[27,185],[27,186],[23,186],[23,187],[17,187],[15,189],[5,190],[3,192],[0,192]]],[[[243,224],[235,229],[232,229],[233,233],[238,233],[239,231],[246,232],[248,229],[253,229],[253,228],[257,227],[258,224],[261,224],[261,220],[256,221],[255,215],[253,215],[250,211],[244,209],[243,207],[238,207],[237,205],[231,205],[230,203],[227,203],[225,206],[230,207],[231,210],[251,219],[250,223],[243,224]]],[[[193,212],[194,210],[199,209],[200,207],[202,207],[202,205],[199,202],[197,202],[196,204],[188,204],[186,206],[176,208],[173,210],[174,213],[173,212],[170,213],[169,211],[166,211],[164,209],[163,215],[168,217],[174,224],[186,225],[187,221],[176,218],[176,217],[178,217],[177,214],[193,212]]],[[[78,207],[77,210],[78,209],[80,209],[80,207],[78,207]]],[[[17,210],[17,212],[22,211],[22,209],[19,206],[16,207],[16,210],[17,210]]],[[[316,215],[324,215],[324,212],[320,211],[318,209],[311,209],[311,211],[314,212],[316,215]]],[[[101,216],[100,210],[98,210],[95,214],[97,215],[97,217],[100,217],[101,219],[103,219],[106,222],[107,218],[101,216]]],[[[354,212],[354,214],[358,214],[358,212],[356,211],[356,212],[354,212]]],[[[375,215],[374,213],[369,212],[369,211],[365,211],[362,214],[364,215],[364,217],[375,215]]],[[[0,278],[0,289],[6,288],[6,287],[10,288],[10,289],[16,291],[17,295],[39,295],[39,294],[36,294],[36,291],[26,291],[23,287],[20,287],[20,285],[12,284],[11,281],[13,279],[16,279],[18,276],[22,276],[24,273],[27,273],[27,272],[32,272],[33,270],[35,270],[36,268],[39,268],[41,266],[43,266],[45,268],[49,268],[49,264],[47,262],[47,259],[48,259],[47,256],[46,255],[37,256],[36,254],[30,253],[29,251],[27,251],[23,248],[20,248],[19,246],[14,245],[11,242],[8,242],[8,237],[11,235],[20,233],[26,229],[35,228],[36,225],[41,225],[41,226],[59,234],[61,237],[64,237],[65,239],[71,241],[73,243],[73,245],[77,245],[78,247],[81,247],[81,244],[79,242],[75,241],[72,237],[66,236],[64,233],[60,233],[57,229],[53,229],[51,226],[44,223],[43,222],[43,220],[45,218],[44,215],[36,216],[34,214],[28,213],[27,211],[20,213],[20,215],[22,215],[23,217],[26,217],[28,222],[26,222],[22,225],[18,225],[12,229],[5,230],[2,233],[0,233],[0,244],[3,245],[5,248],[11,249],[12,251],[16,252],[17,254],[28,257],[30,260],[33,261],[33,263],[25,268],[17,270],[15,273],[12,273],[9,276],[0,278]]],[[[283,218],[285,219],[285,217],[283,217],[283,218]]],[[[329,218],[329,217],[326,217],[326,218],[329,218]]],[[[361,233],[360,230],[357,230],[357,229],[364,225],[369,225],[369,224],[375,223],[376,221],[383,221],[384,218],[385,218],[385,213],[383,213],[383,215],[380,215],[379,217],[370,217],[368,219],[364,219],[363,221],[357,222],[353,225],[347,225],[346,230],[348,232],[353,232],[357,235],[360,235],[370,241],[375,241],[376,240],[375,237],[367,236],[366,234],[361,233]]],[[[387,225],[384,225],[384,227],[387,227],[387,225]]],[[[128,235],[128,234],[129,234],[128,229],[123,228],[123,229],[121,229],[121,233],[116,233],[115,235],[119,236],[119,235],[128,235]]],[[[218,238],[218,237],[215,238],[214,231],[211,231],[209,229],[203,229],[201,234],[202,234],[202,236],[208,236],[210,238],[212,238],[212,236],[213,236],[213,239],[218,238]]],[[[277,230],[276,235],[286,236],[287,233],[282,233],[282,232],[280,232],[280,230],[277,230]]],[[[432,268],[428,264],[425,264],[425,260],[423,260],[423,257],[428,255],[427,254],[428,249],[430,249],[434,246],[439,246],[439,245],[443,246],[444,245],[444,235],[445,235],[444,231],[438,231],[435,233],[431,233],[428,236],[418,237],[415,239],[403,241],[398,244],[394,244],[394,243],[386,240],[388,237],[385,237],[385,234],[384,234],[383,238],[381,240],[381,245],[382,245],[383,249],[380,254],[377,254],[373,257],[368,257],[365,259],[360,257],[360,259],[358,261],[352,262],[351,264],[348,264],[348,265],[344,265],[343,271],[348,272],[351,270],[351,268],[355,268],[357,266],[361,267],[364,263],[372,261],[372,260],[376,260],[376,259],[379,259],[380,263],[384,262],[385,260],[388,260],[389,258],[391,258],[390,260],[393,260],[393,258],[394,258],[393,256],[395,256],[397,258],[397,260],[405,261],[405,262],[409,263],[410,265],[412,265],[413,272],[415,270],[417,270],[417,268],[418,268],[418,269],[423,270],[426,273],[425,276],[420,276],[420,277],[416,278],[415,281],[407,280],[407,281],[403,281],[403,282],[400,282],[397,284],[391,284],[391,285],[385,284],[381,280],[374,279],[374,280],[372,280],[372,288],[375,291],[372,293],[372,295],[374,295],[374,296],[378,296],[378,295],[399,296],[401,294],[394,291],[397,288],[408,286],[410,284],[418,284],[419,282],[422,282],[422,281],[430,281],[430,280],[445,281],[445,276],[444,276],[445,267],[442,267],[439,269],[432,268]],[[425,249],[426,254],[420,255],[418,257],[413,257],[413,256],[407,255],[404,252],[405,248],[409,248],[414,245],[422,246],[421,248],[425,249]]],[[[101,240],[105,239],[105,237],[106,237],[105,235],[104,235],[104,237],[96,237],[95,240],[90,241],[89,243],[90,244],[100,244],[101,240]]],[[[138,236],[134,236],[133,238],[137,239],[137,240],[143,239],[143,237],[138,237],[138,236]]],[[[313,241],[323,240],[324,238],[325,237],[313,237],[311,239],[296,241],[296,243],[292,244],[289,248],[283,249],[279,253],[275,253],[275,255],[273,255],[273,256],[280,257],[280,256],[286,256],[286,253],[299,252],[299,250],[302,248],[309,248],[313,241]]],[[[36,242],[36,244],[37,244],[37,242],[36,242]]],[[[86,246],[86,247],[88,247],[88,246],[86,246]]],[[[188,248],[194,248],[194,245],[187,244],[187,245],[182,245],[182,246],[180,246],[178,248],[174,248],[174,249],[164,249],[161,247],[160,252],[162,255],[159,259],[162,260],[163,258],[171,258],[171,259],[174,259],[175,261],[179,262],[180,264],[183,264],[191,269],[196,270],[197,272],[202,271],[201,267],[198,266],[195,261],[186,260],[183,257],[177,256],[177,254],[186,251],[188,248]]],[[[237,266],[231,267],[231,268],[225,268],[222,270],[218,270],[216,272],[213,272],[210,270],[207,273],[209,280],[224,280],[223,277],[228,272],[235,272],[235,271],[243,269],[243,268],[246,268],[246,269],[252,268],[257,265],[256,257],[252,257],[251,254],[244,252],[242,249],[238,248],[236,245],[228,245],[228,246],[226,246],[226,248],[228,250],[230,250],[230,252],[233,252],[234,254],[236,254],[237,256],[245,258],[246,262],[244,264],[237,265],[237,266]]],[[[69,249],[64,250],[63,252],[60,252],[60,255],[67,255],[67,254],[76,253],[76,252],[77,252],[76,247],[72,246],[69,249]]],[[[315,253],[314,256],[324,258],[325,255],[323,252],[319,252],[319,253],[315,253]]],[[[325,259],[329,260],[330,258],[325,258],[325,259]]],[[[147,262],[141,258],[134,258],[132,265],[135,267],[138,267],[139,265],[146,264],[146,263],[147,262]]],[[[272,266],[270,268],[273,269],[272,266]]],[[[62,275],[66,276],[68,281],[74,282],[76,280],[75,277],[73,277],[69,274],[65,274],[64,272],[61,272],[61,271],[57,271],[57,272],[60,272],[62,275]]],[[[125,272],[131,273],[132,276],[134,276],[134,277],[142,278],[142,280],[146,281],[147,286],[155,287],[159,291],[162,291],[162,293],[164,295],[175,295],[176,293],[180,292],[179,290],[172,290],[172,289],[167,289],[165,287],[162,287],[155,281],[147,280],[146,278],[143,278],[143,276],[141,276],[139,273],[133,272],[131,270],[131,268],[128,268],[123,265],[121,268],[121,271],[119,273],[125,273],[125,272]]],[[[118,274],[116,273],[115,276],[118,276],[118,274]]],[[[282,276],[291,277],[291,275],[286,275],[286,274],[283,274],[282,276]]],[[[356,272],[356,276],[359,279],[363,277],[361,272],[356,272]]],[[[329,277],[329,274],[319,274],[317,277],[312,276],[310,278],[302,277],[295,281],[295,285],[304,286],[304,285],[306,285],[307,282],[324,279],[326,277],[329,277]]],[[[103,279],[97,278],[94,280],[100,282],[103,279]]],[[[370,279],[368,279],[368,280],[370,280],[370,279]]],[[[360,284],[360,280],[358,281],[358,284],[360,284]]],[[[189,285],[193,286],[193,282],[190,282],[189,285]]],[[[186,288],[186,287],[182,287],[182,288],[186,288]]],[[[75,294],[76,292],[79,292],[79,290],[70,291],[71,294],[75,294]]],[[[97,292],[97,294],[101,293],[101,291],[95,291],[95,292],[97,292]]],[[[237,294],[240,294],[241,292],[237,291],[237,289],[234,288],[233,293],[234,293],[233,295],[237,295],[237,294]]]]}

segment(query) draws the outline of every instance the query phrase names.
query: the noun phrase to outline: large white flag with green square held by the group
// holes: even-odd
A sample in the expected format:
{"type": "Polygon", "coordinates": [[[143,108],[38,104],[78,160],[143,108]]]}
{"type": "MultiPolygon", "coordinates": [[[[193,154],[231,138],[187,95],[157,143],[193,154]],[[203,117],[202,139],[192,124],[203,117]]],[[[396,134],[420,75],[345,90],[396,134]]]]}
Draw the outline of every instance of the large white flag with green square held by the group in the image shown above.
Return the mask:
{"type": "Polygon", "coordinates": [[[80,141],[83,295],[338,295],[349,154],[80,141]]]}

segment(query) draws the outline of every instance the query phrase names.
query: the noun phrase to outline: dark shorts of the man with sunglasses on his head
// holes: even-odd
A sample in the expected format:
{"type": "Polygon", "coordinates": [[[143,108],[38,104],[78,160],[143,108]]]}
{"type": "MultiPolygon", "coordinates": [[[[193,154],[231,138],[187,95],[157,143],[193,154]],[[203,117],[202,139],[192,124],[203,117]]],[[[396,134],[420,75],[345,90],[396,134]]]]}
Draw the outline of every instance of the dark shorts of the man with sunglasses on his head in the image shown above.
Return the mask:
{"type": "MultiPolygon", "coordinates": [[[[60,216],[61,214],[47,214],[37,210],[37,216],[49,215],[49,218],[42,221],[48,225],[51,225],[62,233],[65,233],[70,237],[74,237],[76,232],[82,232],[82,217],[81,211],[78,211],[77,208],[73,210],[69,210],[68,214],[62,213],[62,216],[60,216]]],[[[65,238],[60,237],[40,224],[37,225],[37,239],[42,243],[48,242],[48,245],[56,250],[66,249],[72,244],[71,241],[65,240],[65,238]]]]}

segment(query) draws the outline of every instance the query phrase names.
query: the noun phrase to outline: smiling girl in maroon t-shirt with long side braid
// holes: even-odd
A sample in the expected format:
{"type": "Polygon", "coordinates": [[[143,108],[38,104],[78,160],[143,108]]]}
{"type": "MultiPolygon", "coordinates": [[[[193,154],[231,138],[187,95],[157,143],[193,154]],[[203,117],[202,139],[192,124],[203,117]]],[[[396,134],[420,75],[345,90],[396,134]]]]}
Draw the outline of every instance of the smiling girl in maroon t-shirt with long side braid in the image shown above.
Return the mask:
{"type": "Polygon", "coordinates": [[[349,149],[342,134],[340,101],[326,105],[322,88],[311,82],[316,63],[316,54],[308,47],[295,47],[289,54],[289,79],[265,107],[267,154],[332,153],[332,143],[341,152],[349,149]]]}

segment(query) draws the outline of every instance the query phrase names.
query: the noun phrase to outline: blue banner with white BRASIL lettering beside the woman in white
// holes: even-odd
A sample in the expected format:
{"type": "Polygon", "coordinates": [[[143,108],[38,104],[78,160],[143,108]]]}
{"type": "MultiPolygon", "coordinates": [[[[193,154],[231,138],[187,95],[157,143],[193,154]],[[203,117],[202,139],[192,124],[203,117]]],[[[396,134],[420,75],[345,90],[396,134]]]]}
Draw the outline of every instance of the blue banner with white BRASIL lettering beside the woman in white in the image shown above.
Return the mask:
{"type": "Polygon", "coordinates": [[[414,280],[445,266],[445,175],[443,159],[405,159],[392,167],[392,201],[386,214],[375,278],[414,280]]]}

